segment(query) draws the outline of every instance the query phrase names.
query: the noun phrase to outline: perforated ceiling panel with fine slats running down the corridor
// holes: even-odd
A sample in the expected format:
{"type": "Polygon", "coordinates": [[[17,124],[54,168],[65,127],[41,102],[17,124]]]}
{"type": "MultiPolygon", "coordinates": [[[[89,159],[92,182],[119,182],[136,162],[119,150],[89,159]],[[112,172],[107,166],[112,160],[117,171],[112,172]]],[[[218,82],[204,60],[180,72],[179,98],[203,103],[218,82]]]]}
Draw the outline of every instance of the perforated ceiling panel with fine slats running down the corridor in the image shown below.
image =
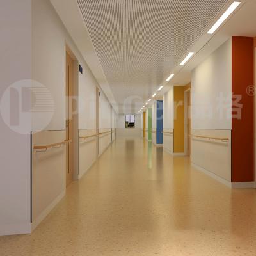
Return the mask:
{"type": "Polygon", "coordinates": [[[168,77],[228,0],[77,0],[116,102],[168,77]]]}

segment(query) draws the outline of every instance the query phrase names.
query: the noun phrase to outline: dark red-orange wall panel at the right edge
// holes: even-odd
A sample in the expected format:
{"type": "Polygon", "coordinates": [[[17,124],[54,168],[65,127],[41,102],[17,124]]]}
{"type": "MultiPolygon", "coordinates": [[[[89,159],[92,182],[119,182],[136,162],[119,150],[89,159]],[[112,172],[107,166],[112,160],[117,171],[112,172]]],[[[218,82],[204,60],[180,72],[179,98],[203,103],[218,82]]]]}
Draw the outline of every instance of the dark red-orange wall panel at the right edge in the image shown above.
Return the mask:
{"type": "MultiPolygon", "coordinates": [[[[253,38],[232,36],[232,92],[241,95],[241,119],[232,117],[232,182],[254,180],[254,97],[247,88],[254,84],[253,38]]],[[[237,106],[232,106],[237,113],[237,106]]]]}

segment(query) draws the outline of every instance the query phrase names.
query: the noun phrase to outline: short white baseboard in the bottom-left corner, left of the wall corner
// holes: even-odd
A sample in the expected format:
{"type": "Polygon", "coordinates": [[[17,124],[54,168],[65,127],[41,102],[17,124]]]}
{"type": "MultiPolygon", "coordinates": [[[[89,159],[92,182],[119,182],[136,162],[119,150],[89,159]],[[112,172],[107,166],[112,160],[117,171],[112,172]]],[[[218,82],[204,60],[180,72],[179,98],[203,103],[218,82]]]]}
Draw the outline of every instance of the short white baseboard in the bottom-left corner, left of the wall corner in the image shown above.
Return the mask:
{"type": "Polygon", "coordinates": [[[0,236],[31,234],[31,223],[0,225],[0,236]]]}

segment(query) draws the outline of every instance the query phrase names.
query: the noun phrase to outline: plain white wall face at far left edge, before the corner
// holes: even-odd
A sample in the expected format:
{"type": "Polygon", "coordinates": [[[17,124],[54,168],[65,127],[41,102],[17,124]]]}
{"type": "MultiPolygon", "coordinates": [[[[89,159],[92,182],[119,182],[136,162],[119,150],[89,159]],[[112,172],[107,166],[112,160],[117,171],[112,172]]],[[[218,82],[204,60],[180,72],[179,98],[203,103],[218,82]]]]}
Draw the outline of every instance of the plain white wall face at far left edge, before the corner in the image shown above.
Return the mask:
{"type": "MultiPolygon", "coordinates": [[[[11,84],[31,79],[31,0],[2,0],[0,24],[2,98],[11,84]]],[[[30,106],[30,95],[27,96],[23,99],[30,106]]],[[[2,110],[6,108],[1,104],[2,110]]],[[[0,115],[0,235],[31,230],[30,114],[27,121],[27,134],[21,134],[19,127],[18,132],[12,131],[10,123],[6,124],[0,115]]]]}

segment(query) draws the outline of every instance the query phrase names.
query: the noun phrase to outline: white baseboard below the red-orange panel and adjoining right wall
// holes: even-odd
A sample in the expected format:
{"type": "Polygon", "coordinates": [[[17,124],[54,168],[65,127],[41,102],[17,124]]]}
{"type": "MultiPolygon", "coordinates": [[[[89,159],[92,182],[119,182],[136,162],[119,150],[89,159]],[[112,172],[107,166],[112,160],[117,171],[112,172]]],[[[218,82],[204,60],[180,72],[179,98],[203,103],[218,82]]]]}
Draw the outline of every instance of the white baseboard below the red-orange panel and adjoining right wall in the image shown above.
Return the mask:
{"type": "Polygon", "coordinates": [[[192,166],[199,170],[200,172],[205,173],[206,175],[212,177],[213,179],[217,180],[218,182],[221,182],[222,184],[228,186],[228,188],[255,188],[256,183],[255,182],[230,182],[228,180],[225,180],[221,178],[220,176],[209,172],[208,170],[205,170],[204,168],[198,166],[195,163],[192,163],[192,166]]]}

